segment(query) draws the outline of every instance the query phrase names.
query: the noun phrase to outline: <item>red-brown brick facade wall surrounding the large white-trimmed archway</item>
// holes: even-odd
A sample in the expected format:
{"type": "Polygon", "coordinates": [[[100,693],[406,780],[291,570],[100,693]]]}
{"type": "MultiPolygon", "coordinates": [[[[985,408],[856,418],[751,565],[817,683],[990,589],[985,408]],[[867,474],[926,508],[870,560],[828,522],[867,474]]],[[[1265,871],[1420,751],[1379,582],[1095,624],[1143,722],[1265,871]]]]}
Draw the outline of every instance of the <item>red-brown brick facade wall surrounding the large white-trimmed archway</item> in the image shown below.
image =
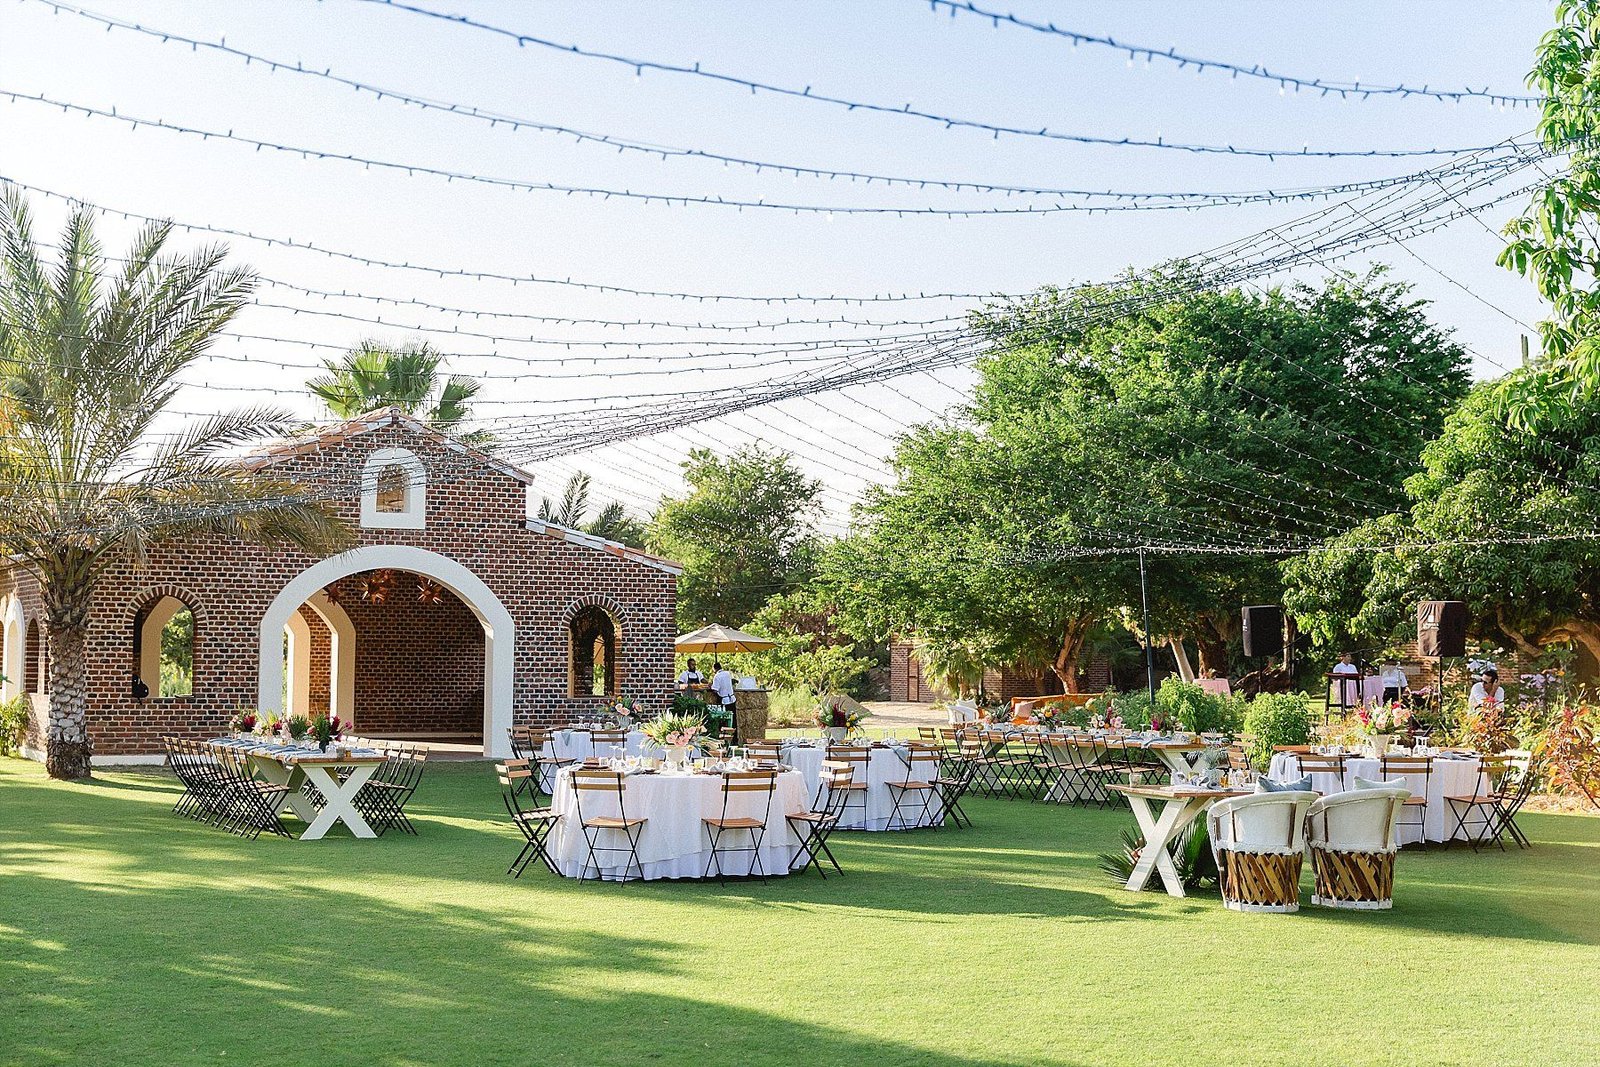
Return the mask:
{"type": "MultiPolygon", "coordinates": [[[[526,490],[515,478],[400,426],[286,459],[274,474],[338,493],[339,512],[360,544],[405,544],[446,555],[494,592],[517,624],[514,721],[554,725],[602,701],[566,693],[565,622],[587,603],[605,605],[619,621],[621,693],[646,709],[670,699],[677,577],[528,530],[526,490]],[[426,530],[358,526],[360,469],[378,448],[408,448],[429,469],[426,530]]],[[[90,613],[94,752],[158,752],[165,733],[214,736],[235,709],[254,705],[261,619],[278,590],[315,561],[296,549],[197,537],[154,547],[142,569],[131,561],[112,568],[90,613]],[[194,694],[138,704],[128,689],[133,614],[163,592],[179,597],[195,616],[194,694]]],[[[475,669],[482,678],[482,661],[475,669]]]]}

